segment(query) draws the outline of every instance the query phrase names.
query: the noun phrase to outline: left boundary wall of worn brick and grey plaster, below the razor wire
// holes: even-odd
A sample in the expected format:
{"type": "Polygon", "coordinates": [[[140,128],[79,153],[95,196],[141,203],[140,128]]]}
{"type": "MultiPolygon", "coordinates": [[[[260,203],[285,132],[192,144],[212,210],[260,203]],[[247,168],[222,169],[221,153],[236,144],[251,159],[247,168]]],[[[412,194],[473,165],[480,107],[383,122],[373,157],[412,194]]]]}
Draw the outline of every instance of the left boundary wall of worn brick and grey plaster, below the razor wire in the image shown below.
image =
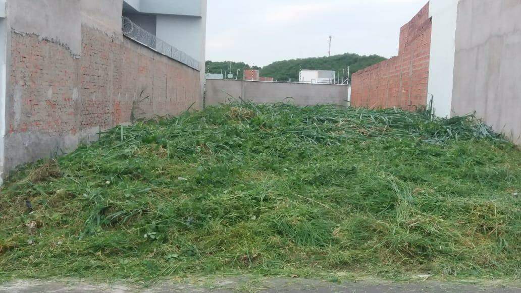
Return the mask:
{"type": "Polygon", "coordinates": [[[5,171],[118,124],[202,106],[200,72],[124,38],[121,9],[120,0],[9,1],[5,171]]]}

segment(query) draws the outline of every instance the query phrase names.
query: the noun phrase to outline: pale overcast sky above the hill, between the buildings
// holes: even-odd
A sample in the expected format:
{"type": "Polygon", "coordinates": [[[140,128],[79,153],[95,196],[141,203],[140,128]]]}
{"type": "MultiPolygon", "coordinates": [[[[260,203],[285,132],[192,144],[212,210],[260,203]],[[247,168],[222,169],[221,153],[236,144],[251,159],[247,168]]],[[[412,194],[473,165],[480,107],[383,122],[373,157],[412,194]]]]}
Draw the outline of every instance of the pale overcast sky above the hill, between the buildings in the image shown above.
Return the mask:
{"type": "Polygon", "coordinates": [[[428,0],[208,0],[206,59],[271,62],[398,54],[400,27],[428,0]]]}

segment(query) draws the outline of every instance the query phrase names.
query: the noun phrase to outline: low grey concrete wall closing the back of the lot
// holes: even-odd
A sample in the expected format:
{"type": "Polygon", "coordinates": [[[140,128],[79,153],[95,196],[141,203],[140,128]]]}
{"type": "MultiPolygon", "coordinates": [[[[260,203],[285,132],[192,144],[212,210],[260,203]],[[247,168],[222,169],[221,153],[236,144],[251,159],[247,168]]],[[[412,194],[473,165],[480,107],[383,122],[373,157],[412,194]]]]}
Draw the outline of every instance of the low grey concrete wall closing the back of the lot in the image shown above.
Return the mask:
{"type": "Polygon", "coordinates": [[[207,80],[205,97],[207,106],[229,103],[230,95],[236,100],[241,97],[258,104],[287,102],[299,106],[346,106],[348,91],[347,85],[338,84],[207,80]]]}

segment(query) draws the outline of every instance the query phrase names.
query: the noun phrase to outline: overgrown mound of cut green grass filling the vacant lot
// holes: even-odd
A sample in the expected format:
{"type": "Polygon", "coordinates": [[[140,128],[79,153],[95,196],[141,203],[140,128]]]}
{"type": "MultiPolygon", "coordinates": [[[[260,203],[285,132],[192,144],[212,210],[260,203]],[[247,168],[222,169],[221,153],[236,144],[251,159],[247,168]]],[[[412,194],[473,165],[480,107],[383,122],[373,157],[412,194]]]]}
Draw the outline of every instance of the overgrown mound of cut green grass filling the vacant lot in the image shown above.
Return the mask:
{"type": "Polygon", "coordinates": [[[472,117],[210,107],[14,173],[0,278],[518,278],[521,152],[472,117]]]}

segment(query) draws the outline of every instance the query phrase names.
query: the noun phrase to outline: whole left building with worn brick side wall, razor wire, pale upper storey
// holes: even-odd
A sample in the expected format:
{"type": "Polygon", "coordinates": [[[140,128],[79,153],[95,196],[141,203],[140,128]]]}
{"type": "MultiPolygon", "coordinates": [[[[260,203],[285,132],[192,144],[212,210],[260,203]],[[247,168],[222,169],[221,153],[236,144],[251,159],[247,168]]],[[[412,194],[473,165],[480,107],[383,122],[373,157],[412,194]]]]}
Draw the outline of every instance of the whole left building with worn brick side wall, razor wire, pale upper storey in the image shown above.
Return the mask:
{"type": "Polygon", "coordinates": [[[205,0],[0,3],[2,177],[116,125],[202,107],[205,23],[205,0]]]}

